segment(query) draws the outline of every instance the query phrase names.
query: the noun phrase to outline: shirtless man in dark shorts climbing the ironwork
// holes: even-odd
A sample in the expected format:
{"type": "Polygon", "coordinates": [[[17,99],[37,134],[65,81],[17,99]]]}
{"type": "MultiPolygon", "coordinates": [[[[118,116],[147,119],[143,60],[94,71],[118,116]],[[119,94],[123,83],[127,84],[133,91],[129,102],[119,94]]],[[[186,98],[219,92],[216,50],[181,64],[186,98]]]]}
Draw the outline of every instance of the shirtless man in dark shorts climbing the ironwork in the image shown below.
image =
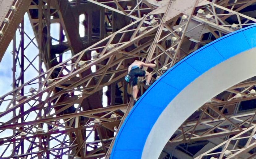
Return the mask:
{"type": "Polygon", "coordinates": [[[144,77],[146,76],[146,85],[150,84],[152,75],[141,69],[141,67],[150,67],[150,68],[155,68],[156,65],[155,64],[151,64],[151,63],[144,63],[138,60],[135,60],[128,68],[128,74],[125,76],[125,80],[127,82],[131,82],[132,85],[132,96],[134,101],[137,101],[137,94],[138,94],[138,77],[144,77]]]}

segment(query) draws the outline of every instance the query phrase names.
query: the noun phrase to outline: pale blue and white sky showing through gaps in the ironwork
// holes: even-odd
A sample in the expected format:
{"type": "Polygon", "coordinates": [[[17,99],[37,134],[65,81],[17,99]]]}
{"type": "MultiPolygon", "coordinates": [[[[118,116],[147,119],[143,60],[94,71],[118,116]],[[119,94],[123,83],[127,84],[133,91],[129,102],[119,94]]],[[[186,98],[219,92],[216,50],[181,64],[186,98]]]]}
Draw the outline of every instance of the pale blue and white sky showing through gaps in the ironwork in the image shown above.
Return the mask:
{"type": "MultiPolygon", "coordinates": [[[[83,20],[83,18],[84,18],[83,15],[80,16],[81,21],[83,20]]],[[[55,39],[59,39],[59,26],[60,26],[59,24],[51,24],[50,34],[55,39]]],[[[34,32],[32,30],[31,23],[29,22],[27,13],[24,15],[24,31],[26,34],[28,34],[29,38],[33,39],[35,37],[34,32]]],[[[81,37],[84,36],[83,25],[79,26],[79,33],[80,33],[81,37]]],[[[26,35],[24,35],[24,46],[25,47],[31,41],[28,37],[26,35]]],[[[20,41],[20,34],[19,34],[19,30],[17,30],[16,31],[16,47],[17,48],[19,46],[19,41],[20,41]]],[[[32,63],[36,67],[36,69],[38,69],[39,61],[38,61],[37,55],[38,55],[39,51],[36,47],[36,45],[37,45],[36,39],[34,39],[33,42],[35,44],[30,43],[28,45],[28,47],[25,49],[24,54],[30,61],[32,61],[36,57],[36,59],[32,63]]],[[[55,45],[55,44],[58,44],[58,42],[52,41],[52,44],[55,45]]],[[[6,53],[4,54],[2,61],[0,62],[0,96],[4,95],[12,90],[12,79],[13,79],[13,77],[12,77],[12,67],[13,67],[12,66],[13,65],[12,64],[13,63],[12,62],[12,60],[13,60],[12,59],[13,58],[12,50],[13,50],[13,42],[11,42],[10,45],[8,46],[6,53]]],[[[70,57],[71,57],[71,52],[67,51],[66,53],[63,54],[63,61],[65,61],[66,59],[68,59],[70,57]]],[[[27,59],[24,60],[25,68],[29,65],[28,60],[27,59]]],[[[44,66],[43,66],[43,69],[45,70],[44,66]]],[[[95,66],[92,67],[92,71],[93,72],[96,71],[95,66]]],[[[16,67],[16,77],[19,76],[19,73],[20,73],[20,69],[19,69],[19,66],[17,66],[16,67]]],[[[27,81],[31,80],[32,78],[35,78],[36,76],[38,76],[38,72],[32,66],[29,66],[28,69],[25,70],[25,73],[24,73],[24,82],[27,82],[27,81]]],[[[24,88],[25,95],[29,95],[29,89],[31,87],[37,88],[38,85],[32,85],[29,87],[25,87],[24,88]]],[[[106,91],[106,90],[107,90],[107,87],[104,87],[103,91],[106,91]]],[[[12,98],[12,97],[10,97],[10,98],[12,98]]],[[[103,93],[103,106],[104,107],[107,106],[107,97],[105,96],[104,93],[103,93]]],[[[6,102],[6,104],[2,103],[0,106],[0,112],[5,111],[6,108],[7,108],[7,102],[6,102]]],[[[24,109],[28,109],[28,108],[29,108],[28,105],[24,105],[24,109]]],[[[52,111],[52,113],[54,113],[54,110],[52,111]]],[[[12,113],[0,118],[0,121],[6,122],[6,121],[10,120],[11,118],[12,118],[12,113]]],[[[30,113],[25,121],[33,121],[35,119],[36,119],[36,113],[30,113]]],[[[62,122],[63,122],[63,120],[62,120],[62,122]]],[[[47,131],[46,125],[44,125],[43,130],[47,131]]],[[[1,137],[9,137],[12,135],[13,135],[13,131],[11,129],[6,129],[6,130],[0,132],[1,137]]],[[[58,134],[53,135],[53,136],[57,136],[57,135],[58,134]]],[[[90,135],[90,137],[87,139],[87,142],[94,141],[93,136],[94,136],[94,133],[92,133],[90,135]]],[[[63,137],[64,137],[64,135],[58,137],[58,139],[62,141],[63,137]]],[[[59,143],[56,141],[50,141],[50,148],[54,147],[55,145],[58,145],[58,144],[59,143]]],[[[101,144],[99,144],[99,145],[101,145],[101,144]]],[[[2,154],[2,152],[6,148],[6,146],[5,145],[0,146],[0,154],[2,154]]],[[[25,152],[28,149],[28,146],[29,146],[29,142],[25,141],[24,142],[25,152]]],[[[90,149],[88,149],[88,150],[90,150],[90,149]]],[[[9,149],[7,149],[7,151],[3,157],[8,157],[9,155],[11,155],[11,152],[12,152],[12,146],[10,146],[9,149]]],[[[53,158],[53,156],[51,156],[50,158],[53,158]]],[[[67,156],[63,157],[63,159],[65,159],[65,158],[67,158],[67,156]]]]}

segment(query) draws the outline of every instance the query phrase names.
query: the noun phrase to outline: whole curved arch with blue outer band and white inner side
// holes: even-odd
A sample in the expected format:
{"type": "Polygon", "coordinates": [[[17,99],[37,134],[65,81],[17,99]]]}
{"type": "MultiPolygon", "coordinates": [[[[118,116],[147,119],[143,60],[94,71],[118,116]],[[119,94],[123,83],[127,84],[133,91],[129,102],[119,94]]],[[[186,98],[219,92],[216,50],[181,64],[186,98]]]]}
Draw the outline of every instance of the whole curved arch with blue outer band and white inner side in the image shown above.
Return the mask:
{"type": "Polygon", "coordinates": [[[179,126],[208,99],[256,75],[256,26],[198,49],[158,79],[122,125],[111,159],[157,159],[179,126]]]}

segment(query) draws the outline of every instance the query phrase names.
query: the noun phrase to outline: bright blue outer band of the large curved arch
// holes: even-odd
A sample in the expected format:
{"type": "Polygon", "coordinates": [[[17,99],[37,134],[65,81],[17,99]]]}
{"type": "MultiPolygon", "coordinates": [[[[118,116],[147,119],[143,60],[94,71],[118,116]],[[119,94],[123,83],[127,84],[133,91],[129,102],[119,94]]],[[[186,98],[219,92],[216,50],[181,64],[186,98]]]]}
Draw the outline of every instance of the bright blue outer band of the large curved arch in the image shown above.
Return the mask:
{"type": "Polygon", "coordinates": [[[212,67],[256,47],[255,37],[256,25],[238,30],[198,49],[169,69],[131,110],[117,134],[110,158],[141,158],[147,136],[174,97],[212,67]]]}

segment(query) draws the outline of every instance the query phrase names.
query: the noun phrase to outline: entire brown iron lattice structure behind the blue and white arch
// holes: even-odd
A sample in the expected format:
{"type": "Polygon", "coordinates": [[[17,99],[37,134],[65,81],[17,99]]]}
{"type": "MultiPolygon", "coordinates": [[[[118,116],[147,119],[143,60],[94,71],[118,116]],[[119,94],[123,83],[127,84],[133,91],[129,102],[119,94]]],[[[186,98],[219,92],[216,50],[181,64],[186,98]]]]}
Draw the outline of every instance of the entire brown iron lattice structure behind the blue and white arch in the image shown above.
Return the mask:
{"type": "MultiPolygon", "coordinates": [[[[0,97],[0,134],[12,131],[1,136],[0,158],[109,158],[115,133],[133,105],[131,88],[123,80],[131,62],[155,62],[154,81],[193,51],[256,22],[256,0],[0,2],[0,53],[2,58],[12,40],[14,77],[13,90],[0,97]],[[26,12],[35,37],[24,30],[26,12]],[[55,23],[60,25],[57,40],[51,37],[55,23]],[[30,42],[25,44],[26,38],[30,42]],[[26,54],[29,45],[39,50],[32,59],[26,54]],[[63,60],[66,50],[72,57],[63,60]],[[25,81],[30,67],[37,75],[25,81]],[[103,108],[104,86],[109,91],[103,108]],[[88,142],[93,133],[94,141],[88,142]],[[52,146],[52,141],[58,144],[52,146]]],[[[140,81],[141,95],[147,86],[140,81]]],[[[230,146],[229,158],[252,157],[255,107],[239,108],[256,99],[255,84],[254,78],[248,79],[203,105],[170,138],[160,158],[221,158],[230,146]],[[242,139],[245,144],[240,144],[242,139]],[[193,146],[197,149],[191,150],[193,146]]]]}

